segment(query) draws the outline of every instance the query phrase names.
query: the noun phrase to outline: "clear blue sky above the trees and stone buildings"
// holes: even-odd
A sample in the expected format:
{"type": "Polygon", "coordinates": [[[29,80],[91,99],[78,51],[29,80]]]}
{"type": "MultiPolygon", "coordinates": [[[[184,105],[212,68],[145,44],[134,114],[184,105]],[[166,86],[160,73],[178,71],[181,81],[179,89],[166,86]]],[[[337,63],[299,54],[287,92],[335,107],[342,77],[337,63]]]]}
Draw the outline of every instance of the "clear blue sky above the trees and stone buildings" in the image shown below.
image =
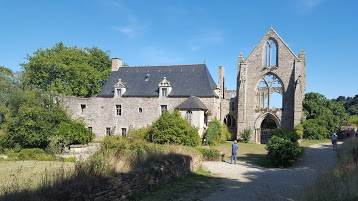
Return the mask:
{"type": "Polygon", "coordinates": [[[358,1],[334,0],[3,0],[0,65],[20,71],[39,48],[98,47],[129,65],[206,62],[235,89],[248,56],[272,26],[307,58],[307,92],[358,94],[358,1]]]}

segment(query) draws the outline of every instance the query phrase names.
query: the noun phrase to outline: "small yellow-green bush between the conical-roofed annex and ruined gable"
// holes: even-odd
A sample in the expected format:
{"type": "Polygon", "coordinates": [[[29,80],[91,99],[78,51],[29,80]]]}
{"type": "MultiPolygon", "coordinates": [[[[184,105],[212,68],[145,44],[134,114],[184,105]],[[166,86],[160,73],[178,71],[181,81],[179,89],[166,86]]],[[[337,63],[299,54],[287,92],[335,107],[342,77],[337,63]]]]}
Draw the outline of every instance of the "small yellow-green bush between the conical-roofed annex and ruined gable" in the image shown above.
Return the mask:
{"type": "Polygon", "coordinates": [[[217,145],[226,142],[231,134],[226,125],[215,118],[209,123],[208,130],[206,130],[204,136],[206,145],[217,145]]]}

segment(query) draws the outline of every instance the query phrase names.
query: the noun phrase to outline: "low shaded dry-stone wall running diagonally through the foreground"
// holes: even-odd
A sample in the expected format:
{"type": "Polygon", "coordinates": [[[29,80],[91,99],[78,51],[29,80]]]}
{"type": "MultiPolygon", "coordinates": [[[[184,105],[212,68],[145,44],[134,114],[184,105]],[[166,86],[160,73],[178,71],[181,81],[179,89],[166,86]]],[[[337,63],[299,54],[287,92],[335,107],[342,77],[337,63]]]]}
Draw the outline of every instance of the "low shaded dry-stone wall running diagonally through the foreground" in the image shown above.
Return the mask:
{"type": "Polygon", "coordinates": [[[94,184],[90,194],[77,194],[71,196],[71,200],[128,200],[136,193],[150,191],[156,186],[198,170],[201,162],[198,155],[175,155],[140,170],[106,177],[104,182],[94,184]]]}

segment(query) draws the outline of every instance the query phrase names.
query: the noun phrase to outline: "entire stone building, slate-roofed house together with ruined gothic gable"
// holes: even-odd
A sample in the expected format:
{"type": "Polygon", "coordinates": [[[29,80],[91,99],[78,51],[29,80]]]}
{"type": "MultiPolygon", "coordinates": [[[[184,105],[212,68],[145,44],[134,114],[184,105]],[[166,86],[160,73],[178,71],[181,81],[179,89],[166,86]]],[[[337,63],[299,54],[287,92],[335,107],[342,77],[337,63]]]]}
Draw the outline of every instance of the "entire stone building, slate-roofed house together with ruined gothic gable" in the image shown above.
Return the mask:
{"type": "Polygon", "coordinates": [[[227,125],[233,139],[250,129],[256,143],[266,143],[273,128],[300,123],[305,53],[296,56],[273,28],[246,59],[240,53],[235,90],[225,88],[224,67],[218,68],[215,83],[206,64],[128,67],[113,58],[112,73],[97,97],[66,97],[65,104],[97,137],[127,137],[131,129],[147,127],[163,110],[174,109],[201,137],[214,118],[227,125]]]}

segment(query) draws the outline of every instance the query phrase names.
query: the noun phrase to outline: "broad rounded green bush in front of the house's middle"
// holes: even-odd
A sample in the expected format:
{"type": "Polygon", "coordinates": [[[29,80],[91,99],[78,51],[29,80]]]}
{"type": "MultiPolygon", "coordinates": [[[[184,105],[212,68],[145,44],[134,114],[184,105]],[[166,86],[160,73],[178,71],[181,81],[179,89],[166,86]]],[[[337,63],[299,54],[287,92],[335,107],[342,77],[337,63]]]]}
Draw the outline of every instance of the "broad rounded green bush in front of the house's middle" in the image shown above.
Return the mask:
{"type": "Polygon", "coordinates": [[[197,146],[200,143],[198,130],[181,118],[179,111],[163,114],[150,127],[148,139],[158,144],[197,146]]]}

